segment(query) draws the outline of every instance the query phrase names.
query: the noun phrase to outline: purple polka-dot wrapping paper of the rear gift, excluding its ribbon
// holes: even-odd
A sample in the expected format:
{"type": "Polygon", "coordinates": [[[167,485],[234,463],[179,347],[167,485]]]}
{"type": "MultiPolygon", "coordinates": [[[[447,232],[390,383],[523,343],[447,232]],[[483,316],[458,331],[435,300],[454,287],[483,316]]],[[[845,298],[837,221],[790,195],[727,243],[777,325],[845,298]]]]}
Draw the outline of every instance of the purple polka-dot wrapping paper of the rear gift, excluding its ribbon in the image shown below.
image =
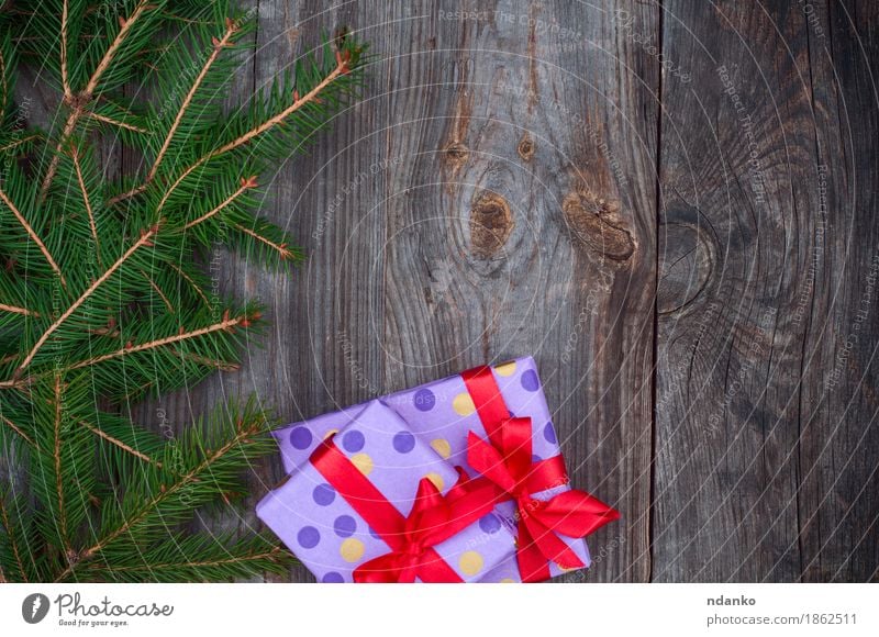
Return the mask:
{"type": "MultiPolygon", "coordinates": [[[[493,372],[510,412],[519,417],[530,416],[532,418],[534,425],[532,451],[535,459],[550,458],[560,454],[534,359],[530,356],[518,358],[494,367],[493,372]]],[[[401,416],[422,442],[433,447],[450,465],[464,467],[471,477],[477,474],[467,463],[467,433],[474,431],[482,438],[488,436],[460,376],[456,375],[394,392],[379,400],[401,416]]],[[[347,426],[364,411],[364,406],[363,403],[353,405],[272,432],[280,447],[287,472],[293,471],[305,462],[324,436],[347,426]]],[[[567,490],[569,487],[565,485],[533,495],[548,499],[567,490]]],[[[512,502],[501,503],[494,509],[494,513],[503,519],[504,526],[515,534],[514,504],[512,502]]],[[[588,567],[590,558],[586,540],[564,536],[563,539],[588,567]]],[[[550,575],[558,575],[564,571],[556,565],[550,565],[549,572],[550,575]]],[[[502,563],[486,573],[480,581],[521,581],[515,555],[508,556],[502,563]]]]}

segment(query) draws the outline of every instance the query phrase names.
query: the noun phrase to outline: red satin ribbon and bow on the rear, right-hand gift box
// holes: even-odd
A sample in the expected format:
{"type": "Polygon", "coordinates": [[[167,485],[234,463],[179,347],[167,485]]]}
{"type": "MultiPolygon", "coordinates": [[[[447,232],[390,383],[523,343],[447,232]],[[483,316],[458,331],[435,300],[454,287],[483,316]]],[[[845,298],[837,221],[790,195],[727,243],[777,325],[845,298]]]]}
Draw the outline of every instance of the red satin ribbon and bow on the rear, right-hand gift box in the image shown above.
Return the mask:
{"type": "Polygon", "coordinates": [[[586,537],[617,519],[620,514],[577,489],[545,501],[532,498],[532,493],[568,483],[564,458],[558,455],[537,462],[532,460],[531,418],[510,414],[491,368],[477,367],[463,372],[461,377],[490,443],[470,432],[467,462],[496,487],[496,502],[515,502],[519,517],[516,561],[522,581],[547,579],[550,561],[563,569],[582,568],[580,558],[559,534],[586,537]]]}

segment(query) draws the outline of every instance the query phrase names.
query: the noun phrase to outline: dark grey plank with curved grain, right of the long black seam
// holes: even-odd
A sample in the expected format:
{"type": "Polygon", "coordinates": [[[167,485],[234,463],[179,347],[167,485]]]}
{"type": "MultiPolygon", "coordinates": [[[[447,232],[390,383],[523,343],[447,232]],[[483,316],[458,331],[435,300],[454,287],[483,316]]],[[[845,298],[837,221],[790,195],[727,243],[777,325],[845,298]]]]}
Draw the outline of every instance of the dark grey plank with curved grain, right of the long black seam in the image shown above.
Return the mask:
{"type": "Polygon", "coordinates": [[[852,269],[879,245],[875,176],[816,42],[824,9],[665,8],[664,54],[693,77],[663,90],[654,579],[824,581],[850,551],[848,574],[876,577],[875,495],[856,488],[875,483],[876,407],[845,411],[868,400],[854,372],[825,384],[865,290],[852,269]]]}

